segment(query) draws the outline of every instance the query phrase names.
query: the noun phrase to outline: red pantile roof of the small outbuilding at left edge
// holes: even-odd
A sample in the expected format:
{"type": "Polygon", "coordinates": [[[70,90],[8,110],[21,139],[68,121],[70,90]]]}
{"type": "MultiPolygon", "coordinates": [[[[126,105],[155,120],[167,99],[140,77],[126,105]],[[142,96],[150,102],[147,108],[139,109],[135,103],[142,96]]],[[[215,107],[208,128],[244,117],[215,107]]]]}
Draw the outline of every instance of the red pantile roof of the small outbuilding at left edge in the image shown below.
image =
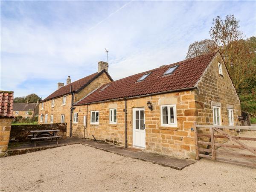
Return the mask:
{"type": "Polygon", "coordinates": [[[0,116],[12,117],[13,92],[0,90],[0,116]]]}

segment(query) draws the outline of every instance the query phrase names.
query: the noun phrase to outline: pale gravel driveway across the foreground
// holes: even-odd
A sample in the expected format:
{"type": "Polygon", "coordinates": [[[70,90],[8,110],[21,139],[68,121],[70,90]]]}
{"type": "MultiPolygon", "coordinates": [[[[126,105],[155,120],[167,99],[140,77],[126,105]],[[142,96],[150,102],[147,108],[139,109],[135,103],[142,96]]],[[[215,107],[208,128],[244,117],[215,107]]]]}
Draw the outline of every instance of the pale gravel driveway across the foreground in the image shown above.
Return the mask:
{"type": "Polygon", "coordinates": [[[253,168],[200,160],[178,171],[81,144],[0,161],[0,191],[256,191],[253,168]]]}

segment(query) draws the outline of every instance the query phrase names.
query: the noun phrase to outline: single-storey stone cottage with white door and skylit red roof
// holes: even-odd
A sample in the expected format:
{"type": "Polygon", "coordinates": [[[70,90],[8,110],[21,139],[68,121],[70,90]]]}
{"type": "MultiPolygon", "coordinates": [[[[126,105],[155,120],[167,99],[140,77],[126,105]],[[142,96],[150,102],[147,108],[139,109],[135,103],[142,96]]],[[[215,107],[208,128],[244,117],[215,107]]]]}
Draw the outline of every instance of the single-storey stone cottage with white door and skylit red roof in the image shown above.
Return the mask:
{"type": "Polygon", "coordinates": [[[194,122],[240,125],[239,97],[219,52],[102,83],[86,95],[74,104],[73,136],[124,147],[195,158],[194,122]]]}

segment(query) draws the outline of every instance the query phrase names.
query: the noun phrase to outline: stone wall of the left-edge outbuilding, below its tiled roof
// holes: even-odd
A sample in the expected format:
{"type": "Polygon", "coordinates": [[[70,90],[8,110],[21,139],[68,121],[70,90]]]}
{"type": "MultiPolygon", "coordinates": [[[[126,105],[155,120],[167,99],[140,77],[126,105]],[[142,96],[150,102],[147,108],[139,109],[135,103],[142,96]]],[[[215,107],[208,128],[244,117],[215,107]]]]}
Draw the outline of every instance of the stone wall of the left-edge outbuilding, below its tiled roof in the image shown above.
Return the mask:
{"type": "Polygon", "coordinates": [[[0,117],[0,157],[6,156],[12,118],[0,117]]]}

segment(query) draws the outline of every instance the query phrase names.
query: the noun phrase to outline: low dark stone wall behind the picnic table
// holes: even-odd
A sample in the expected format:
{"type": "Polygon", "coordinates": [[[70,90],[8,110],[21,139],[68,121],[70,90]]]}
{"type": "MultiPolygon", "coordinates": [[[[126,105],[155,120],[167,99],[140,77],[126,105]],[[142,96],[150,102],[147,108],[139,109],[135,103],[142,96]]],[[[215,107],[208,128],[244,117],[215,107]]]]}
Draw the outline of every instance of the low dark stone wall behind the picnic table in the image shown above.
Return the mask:
{"type": "Polygon", "coordinates": [[[28,135],[32,130],[50,130],[58,129],[60,132],[57,135],[62,136],[62,139],[67,138],[67,123],[52,123],[39,125],[12,125],[10,140],[15,141],[29,141],[28,135]]]}

